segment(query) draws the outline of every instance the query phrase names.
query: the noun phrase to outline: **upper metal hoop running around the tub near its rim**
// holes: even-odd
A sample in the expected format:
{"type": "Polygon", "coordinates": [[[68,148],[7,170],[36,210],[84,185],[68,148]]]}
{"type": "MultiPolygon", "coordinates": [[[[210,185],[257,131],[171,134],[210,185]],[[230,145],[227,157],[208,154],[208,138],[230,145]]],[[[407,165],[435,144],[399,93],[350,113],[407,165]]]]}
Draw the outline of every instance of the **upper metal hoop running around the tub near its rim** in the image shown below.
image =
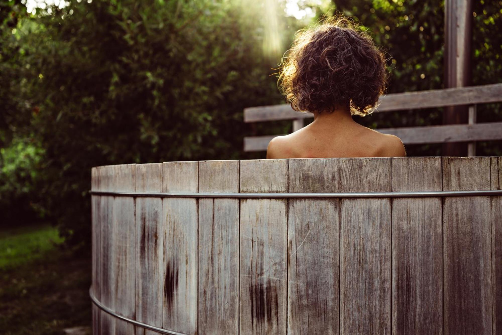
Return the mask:
{"type": "Polygon", "coordinates": [[[148,198],[424,198],[502,196],[502,190],[491,191],[434,191],[434,192],[368,192],[368,193],[152,193],[89,191],[93,196],[148,198]]]}

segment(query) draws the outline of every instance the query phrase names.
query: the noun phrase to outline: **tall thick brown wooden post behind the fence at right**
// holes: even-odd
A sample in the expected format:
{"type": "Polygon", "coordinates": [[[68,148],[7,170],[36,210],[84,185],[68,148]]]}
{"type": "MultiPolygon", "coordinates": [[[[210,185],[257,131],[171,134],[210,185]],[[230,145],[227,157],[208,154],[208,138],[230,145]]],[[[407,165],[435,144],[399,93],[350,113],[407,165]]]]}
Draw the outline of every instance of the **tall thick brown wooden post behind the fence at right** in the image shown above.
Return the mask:
{"type": "MultiPolygon", "coordinates": [[[[469,86],[472,0],[445,1],[445,88],[469,86]]],[[[443,124],[467,123],[467,106],[446,107],[443,124]]],[[[465,156],[464,143],[443,143],[443,156],[465,156]]]]}

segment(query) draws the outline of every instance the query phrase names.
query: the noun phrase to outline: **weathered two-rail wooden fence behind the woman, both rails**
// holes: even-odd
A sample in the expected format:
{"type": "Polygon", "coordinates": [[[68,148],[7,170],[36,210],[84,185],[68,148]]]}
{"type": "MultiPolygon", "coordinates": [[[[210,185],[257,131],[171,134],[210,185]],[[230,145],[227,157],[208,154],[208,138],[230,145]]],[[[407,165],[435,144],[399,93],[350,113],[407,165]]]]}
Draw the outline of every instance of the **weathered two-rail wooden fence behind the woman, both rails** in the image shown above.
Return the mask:
{"type": "MultiPolygon", "coordinates": [[[[400,137],[405,144],[470,142],[469,156],[475,155],[474,141],[502,139],[502,122],[476,123],[476,104],[502,102],[502,84],[481,85],[443,90],[395,93],[382,96],[375,112],[469,105],[468,124],[376,129],[400,137]]],[[[299,113],[290,105],[250,107],[244,109],[244,122],[293,120],[293,131],[303,127],[312,113],[299,113]]],[[[264,151],[278,135],[244,137],[244,151],[264,151]]]]}

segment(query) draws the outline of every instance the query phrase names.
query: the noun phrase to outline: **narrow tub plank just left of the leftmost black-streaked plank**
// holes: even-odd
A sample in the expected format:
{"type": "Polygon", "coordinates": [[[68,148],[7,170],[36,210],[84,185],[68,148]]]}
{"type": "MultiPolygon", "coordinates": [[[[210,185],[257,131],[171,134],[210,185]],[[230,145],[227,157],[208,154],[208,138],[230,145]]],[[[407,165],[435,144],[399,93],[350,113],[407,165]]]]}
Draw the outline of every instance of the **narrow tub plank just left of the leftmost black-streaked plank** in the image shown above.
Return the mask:
{"type": "MultiPolygon", "coordinates": [[[[110,191],[134,192],[135,164],[113,165],[110,191]]],[[[136,220],[133,197],[113,197],[111,222],[111,278],[109,287],[113,310],[123,316],[135,318],[136,312],[136,220]]],[[[110,316],[111,317],[111,316],[110,316]]],[[[114,333],[132,334],[134,326],[116,319],[114,333]]]]}

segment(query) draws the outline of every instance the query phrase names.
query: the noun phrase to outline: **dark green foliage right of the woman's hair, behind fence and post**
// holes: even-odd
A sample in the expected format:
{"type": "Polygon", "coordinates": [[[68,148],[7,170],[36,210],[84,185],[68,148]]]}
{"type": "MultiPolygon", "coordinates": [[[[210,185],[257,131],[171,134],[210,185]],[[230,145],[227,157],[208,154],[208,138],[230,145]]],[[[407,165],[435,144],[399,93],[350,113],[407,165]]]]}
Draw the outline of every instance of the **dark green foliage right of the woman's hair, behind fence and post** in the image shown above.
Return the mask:
{"type": "MultiPolygon", "coordinates": [[[[363,25],[389,55],[388,93],[440,89],[444,66],[444,2],[433,0],[333,0],[335,9],[363,25]]],[[[473,0],[472,85],[502,78],[502,1],[473,0]]],[[[478,122],[500,120],[500,105],[478,106],[478,122]]],[[[358,118],[365,126],[387,128],[442,123],[442,109],[374,113],[358,118]]],[[[440,144],[408,145],[408,155],[441,155],[440,144]]],[[[500,155],[502,144],[483,142],[478,155],[500,155]]]]}

